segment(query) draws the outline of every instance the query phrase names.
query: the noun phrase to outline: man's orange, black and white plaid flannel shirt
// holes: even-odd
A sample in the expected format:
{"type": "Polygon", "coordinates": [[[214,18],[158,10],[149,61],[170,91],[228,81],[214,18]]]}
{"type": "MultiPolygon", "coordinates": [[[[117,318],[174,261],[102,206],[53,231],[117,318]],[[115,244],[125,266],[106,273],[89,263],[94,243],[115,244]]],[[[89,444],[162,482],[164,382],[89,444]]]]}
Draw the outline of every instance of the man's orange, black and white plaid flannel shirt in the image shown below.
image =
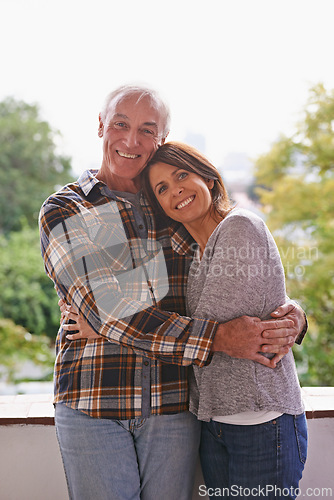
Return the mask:
{"type": "Polygon", "coordinates": [[[191,239],[141,197],[138,210],[87,171],[40,213],[45,269],[98,339],[56,341],[55,398],[97,418],[188,409],[187,367],[204,366],[217,323],[186,316],[191,239]]]}

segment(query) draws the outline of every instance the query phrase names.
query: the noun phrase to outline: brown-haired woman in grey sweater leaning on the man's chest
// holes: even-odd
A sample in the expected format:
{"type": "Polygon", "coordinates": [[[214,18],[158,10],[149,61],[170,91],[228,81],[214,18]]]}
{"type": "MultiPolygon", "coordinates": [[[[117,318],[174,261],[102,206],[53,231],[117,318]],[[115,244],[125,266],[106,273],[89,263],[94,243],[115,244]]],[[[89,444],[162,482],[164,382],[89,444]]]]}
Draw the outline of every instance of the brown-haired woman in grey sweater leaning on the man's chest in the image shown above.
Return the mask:
{"type": "MultiPolygon", "coordinates": [[[[286,292],[279,253],[262,219],[231,208],[218,171],[190,146],[164,144],[142,176],[152,205],[181,222],[198,244],[188,279],[189,315],[219,322],[270,318],[286,292]]],[[[203,421],[200,455],[209,493],[296,497],[307,429],[291,351],[274,370],[215,353],[208,366],[194,366],[190,410],[203,421]]]]}

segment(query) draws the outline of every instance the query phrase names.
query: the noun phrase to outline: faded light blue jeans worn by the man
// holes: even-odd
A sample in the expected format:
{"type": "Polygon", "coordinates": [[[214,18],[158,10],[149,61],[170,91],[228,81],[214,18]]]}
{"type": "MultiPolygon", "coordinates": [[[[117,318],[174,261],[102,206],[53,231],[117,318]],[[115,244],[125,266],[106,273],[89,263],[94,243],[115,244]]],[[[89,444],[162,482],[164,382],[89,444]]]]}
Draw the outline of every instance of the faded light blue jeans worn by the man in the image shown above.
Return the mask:
{"type": "Polygon", "coordinates": [[[71,500],[189,500],[200,422],[189,412],[147,419],[89,417],[56,405],[71,500]]]}

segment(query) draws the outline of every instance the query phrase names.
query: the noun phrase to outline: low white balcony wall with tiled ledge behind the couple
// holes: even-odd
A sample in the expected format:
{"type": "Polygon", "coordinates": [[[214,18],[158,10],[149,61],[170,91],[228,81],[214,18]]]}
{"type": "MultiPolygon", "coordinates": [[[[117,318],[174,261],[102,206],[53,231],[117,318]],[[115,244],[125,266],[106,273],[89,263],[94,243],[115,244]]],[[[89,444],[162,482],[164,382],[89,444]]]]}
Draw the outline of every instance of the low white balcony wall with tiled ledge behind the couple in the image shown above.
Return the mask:
{"type": "MultiPolygon", "coordinates": [[[[331,498],[334,388],[304,388],[303,393],[309,456],[300,489],[304,498],[331,498]]],[[[50,395],[0,397],[0,500],[68,499],[51,399],[50,395]]],[[[201,484],[198,470],[193,500],[205,498],[199,494],[201,484]]]]}

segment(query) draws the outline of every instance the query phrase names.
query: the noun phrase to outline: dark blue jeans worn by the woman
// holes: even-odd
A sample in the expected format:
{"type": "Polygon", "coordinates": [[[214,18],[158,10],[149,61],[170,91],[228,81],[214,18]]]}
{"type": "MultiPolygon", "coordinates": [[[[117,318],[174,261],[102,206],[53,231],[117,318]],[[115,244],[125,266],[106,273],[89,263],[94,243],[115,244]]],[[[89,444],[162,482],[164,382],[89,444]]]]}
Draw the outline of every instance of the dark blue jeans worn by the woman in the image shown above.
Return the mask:
{"type": "Polygon", "coordinates": [[[200,457],[212,498],[219,490],[225,499],[295,498],[306,454],[304,414],[259,425],[202,422],[200,457]]]}

